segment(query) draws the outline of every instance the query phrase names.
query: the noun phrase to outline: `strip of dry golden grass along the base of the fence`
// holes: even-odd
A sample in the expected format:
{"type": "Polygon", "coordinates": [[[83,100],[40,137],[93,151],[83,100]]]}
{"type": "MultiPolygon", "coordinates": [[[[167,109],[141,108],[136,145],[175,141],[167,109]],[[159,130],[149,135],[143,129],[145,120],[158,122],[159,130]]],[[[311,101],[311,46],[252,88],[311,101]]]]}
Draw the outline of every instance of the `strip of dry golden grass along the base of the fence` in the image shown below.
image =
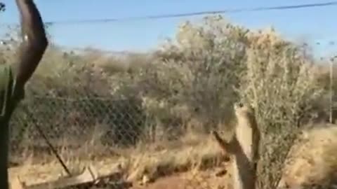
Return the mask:
{"type": "MultiPolygon", "coordinates": [[[[118,151],[118,149],[115,150],[118,151]]],[[[82,157],[75,158],[83,151],[84,149],[80,148],[78,151],[61,153],[72,173],[78,174],[84,167],[92,165],[99,174],[109,174],[115,171],[113,167],[119,165],[129,181],[140,181],[143,176],[155,180],[179,172],[212,169],[227,161],[226,155],[218,148],[216,141],[208,135],[197,136],[196,134],[185,136],[180,141],[159,142],[153,145],[140,144],[137,148],[119,150],[119,155],[110,157],[107,155],[98,157],[95,152],[95,155],[89,155],[91,160],[82,157]]],[[[32,184],[65,176],[61,165],[55,159],[53,161],[39,160],[39,164],[33,162],[37,160],[30,157],[22,167],[12,168],[11,177],[19,176],[20,180],[32,184]],[[46,163],[41,164],[41,162],[46,163]]]]}

